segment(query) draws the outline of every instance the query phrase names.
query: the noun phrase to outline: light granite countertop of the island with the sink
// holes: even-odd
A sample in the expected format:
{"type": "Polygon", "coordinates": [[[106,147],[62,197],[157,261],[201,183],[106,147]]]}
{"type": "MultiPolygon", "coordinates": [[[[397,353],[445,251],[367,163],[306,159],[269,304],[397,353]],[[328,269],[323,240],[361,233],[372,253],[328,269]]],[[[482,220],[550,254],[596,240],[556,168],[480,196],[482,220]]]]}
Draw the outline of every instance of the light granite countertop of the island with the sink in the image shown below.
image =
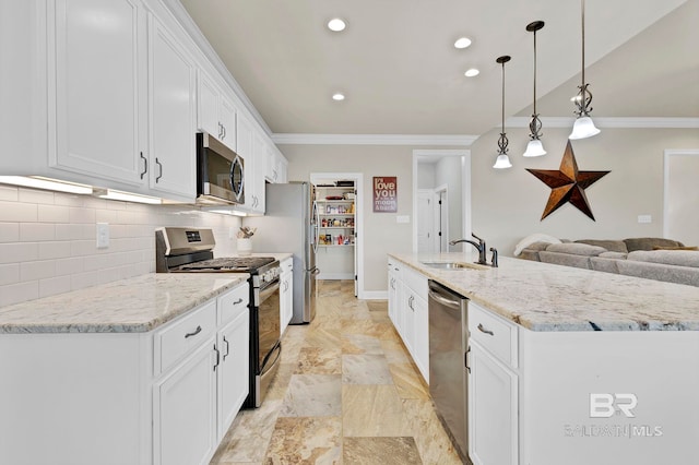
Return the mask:
{"type": "Polygon", "coordinates": [[[532,331],[699,331],[699,287],[509,258],[497,269],[420,263],[472,263],[470,253],[389,255],[532,331]]]}

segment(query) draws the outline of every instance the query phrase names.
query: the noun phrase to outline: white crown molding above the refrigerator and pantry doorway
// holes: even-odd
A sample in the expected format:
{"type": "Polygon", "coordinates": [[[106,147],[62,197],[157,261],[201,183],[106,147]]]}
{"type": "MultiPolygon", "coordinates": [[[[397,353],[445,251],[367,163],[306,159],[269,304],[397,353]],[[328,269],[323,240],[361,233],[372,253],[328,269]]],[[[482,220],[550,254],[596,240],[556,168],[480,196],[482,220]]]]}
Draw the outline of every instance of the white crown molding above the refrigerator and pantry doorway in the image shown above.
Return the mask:
{"type": "Polygon", "coordinates": [[[277,145],[455,145],[478,139],[467,134],[272,134],[277,145]]]}

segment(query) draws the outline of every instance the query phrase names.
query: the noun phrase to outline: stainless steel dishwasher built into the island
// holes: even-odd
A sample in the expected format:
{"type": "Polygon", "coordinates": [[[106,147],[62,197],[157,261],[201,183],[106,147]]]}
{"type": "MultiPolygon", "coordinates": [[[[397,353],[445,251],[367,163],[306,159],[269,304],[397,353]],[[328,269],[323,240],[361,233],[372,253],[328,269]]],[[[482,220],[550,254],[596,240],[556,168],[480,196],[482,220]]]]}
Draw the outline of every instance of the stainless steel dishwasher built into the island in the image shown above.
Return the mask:
{"type": "Polygon", "coordinates": [[[429,394],[437,416],[461,458],[469,458],[467,373],[469,347],[466,302],[469,299],[429,281],[429,394]]]}

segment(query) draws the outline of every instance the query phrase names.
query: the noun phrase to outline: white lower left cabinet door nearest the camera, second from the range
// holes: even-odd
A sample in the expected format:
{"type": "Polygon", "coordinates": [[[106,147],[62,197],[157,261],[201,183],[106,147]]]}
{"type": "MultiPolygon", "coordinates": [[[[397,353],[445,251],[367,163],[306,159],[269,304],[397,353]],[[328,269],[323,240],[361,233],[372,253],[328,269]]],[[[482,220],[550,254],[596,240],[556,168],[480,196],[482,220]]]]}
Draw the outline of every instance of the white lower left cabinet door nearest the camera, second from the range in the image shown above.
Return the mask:
{"type": "Polygon", "coordinates": [[[158,465],[206,464],[216,441],[214,338],[156,383],[153,451],[158,465]]]}

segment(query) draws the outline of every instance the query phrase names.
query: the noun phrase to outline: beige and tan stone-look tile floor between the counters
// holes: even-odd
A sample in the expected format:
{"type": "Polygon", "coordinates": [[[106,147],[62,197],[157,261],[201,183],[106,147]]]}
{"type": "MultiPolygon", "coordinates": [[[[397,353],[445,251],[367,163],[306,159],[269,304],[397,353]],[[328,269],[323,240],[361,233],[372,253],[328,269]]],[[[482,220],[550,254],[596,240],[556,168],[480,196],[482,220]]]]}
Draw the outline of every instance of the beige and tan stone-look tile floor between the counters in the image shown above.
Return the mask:
{"type": "Polygon", "coordinates": [[[211,465],[461,464],[386,301],[321,281],[316,319],[282,347],[268,397],[238,414],[211,465]]]}

